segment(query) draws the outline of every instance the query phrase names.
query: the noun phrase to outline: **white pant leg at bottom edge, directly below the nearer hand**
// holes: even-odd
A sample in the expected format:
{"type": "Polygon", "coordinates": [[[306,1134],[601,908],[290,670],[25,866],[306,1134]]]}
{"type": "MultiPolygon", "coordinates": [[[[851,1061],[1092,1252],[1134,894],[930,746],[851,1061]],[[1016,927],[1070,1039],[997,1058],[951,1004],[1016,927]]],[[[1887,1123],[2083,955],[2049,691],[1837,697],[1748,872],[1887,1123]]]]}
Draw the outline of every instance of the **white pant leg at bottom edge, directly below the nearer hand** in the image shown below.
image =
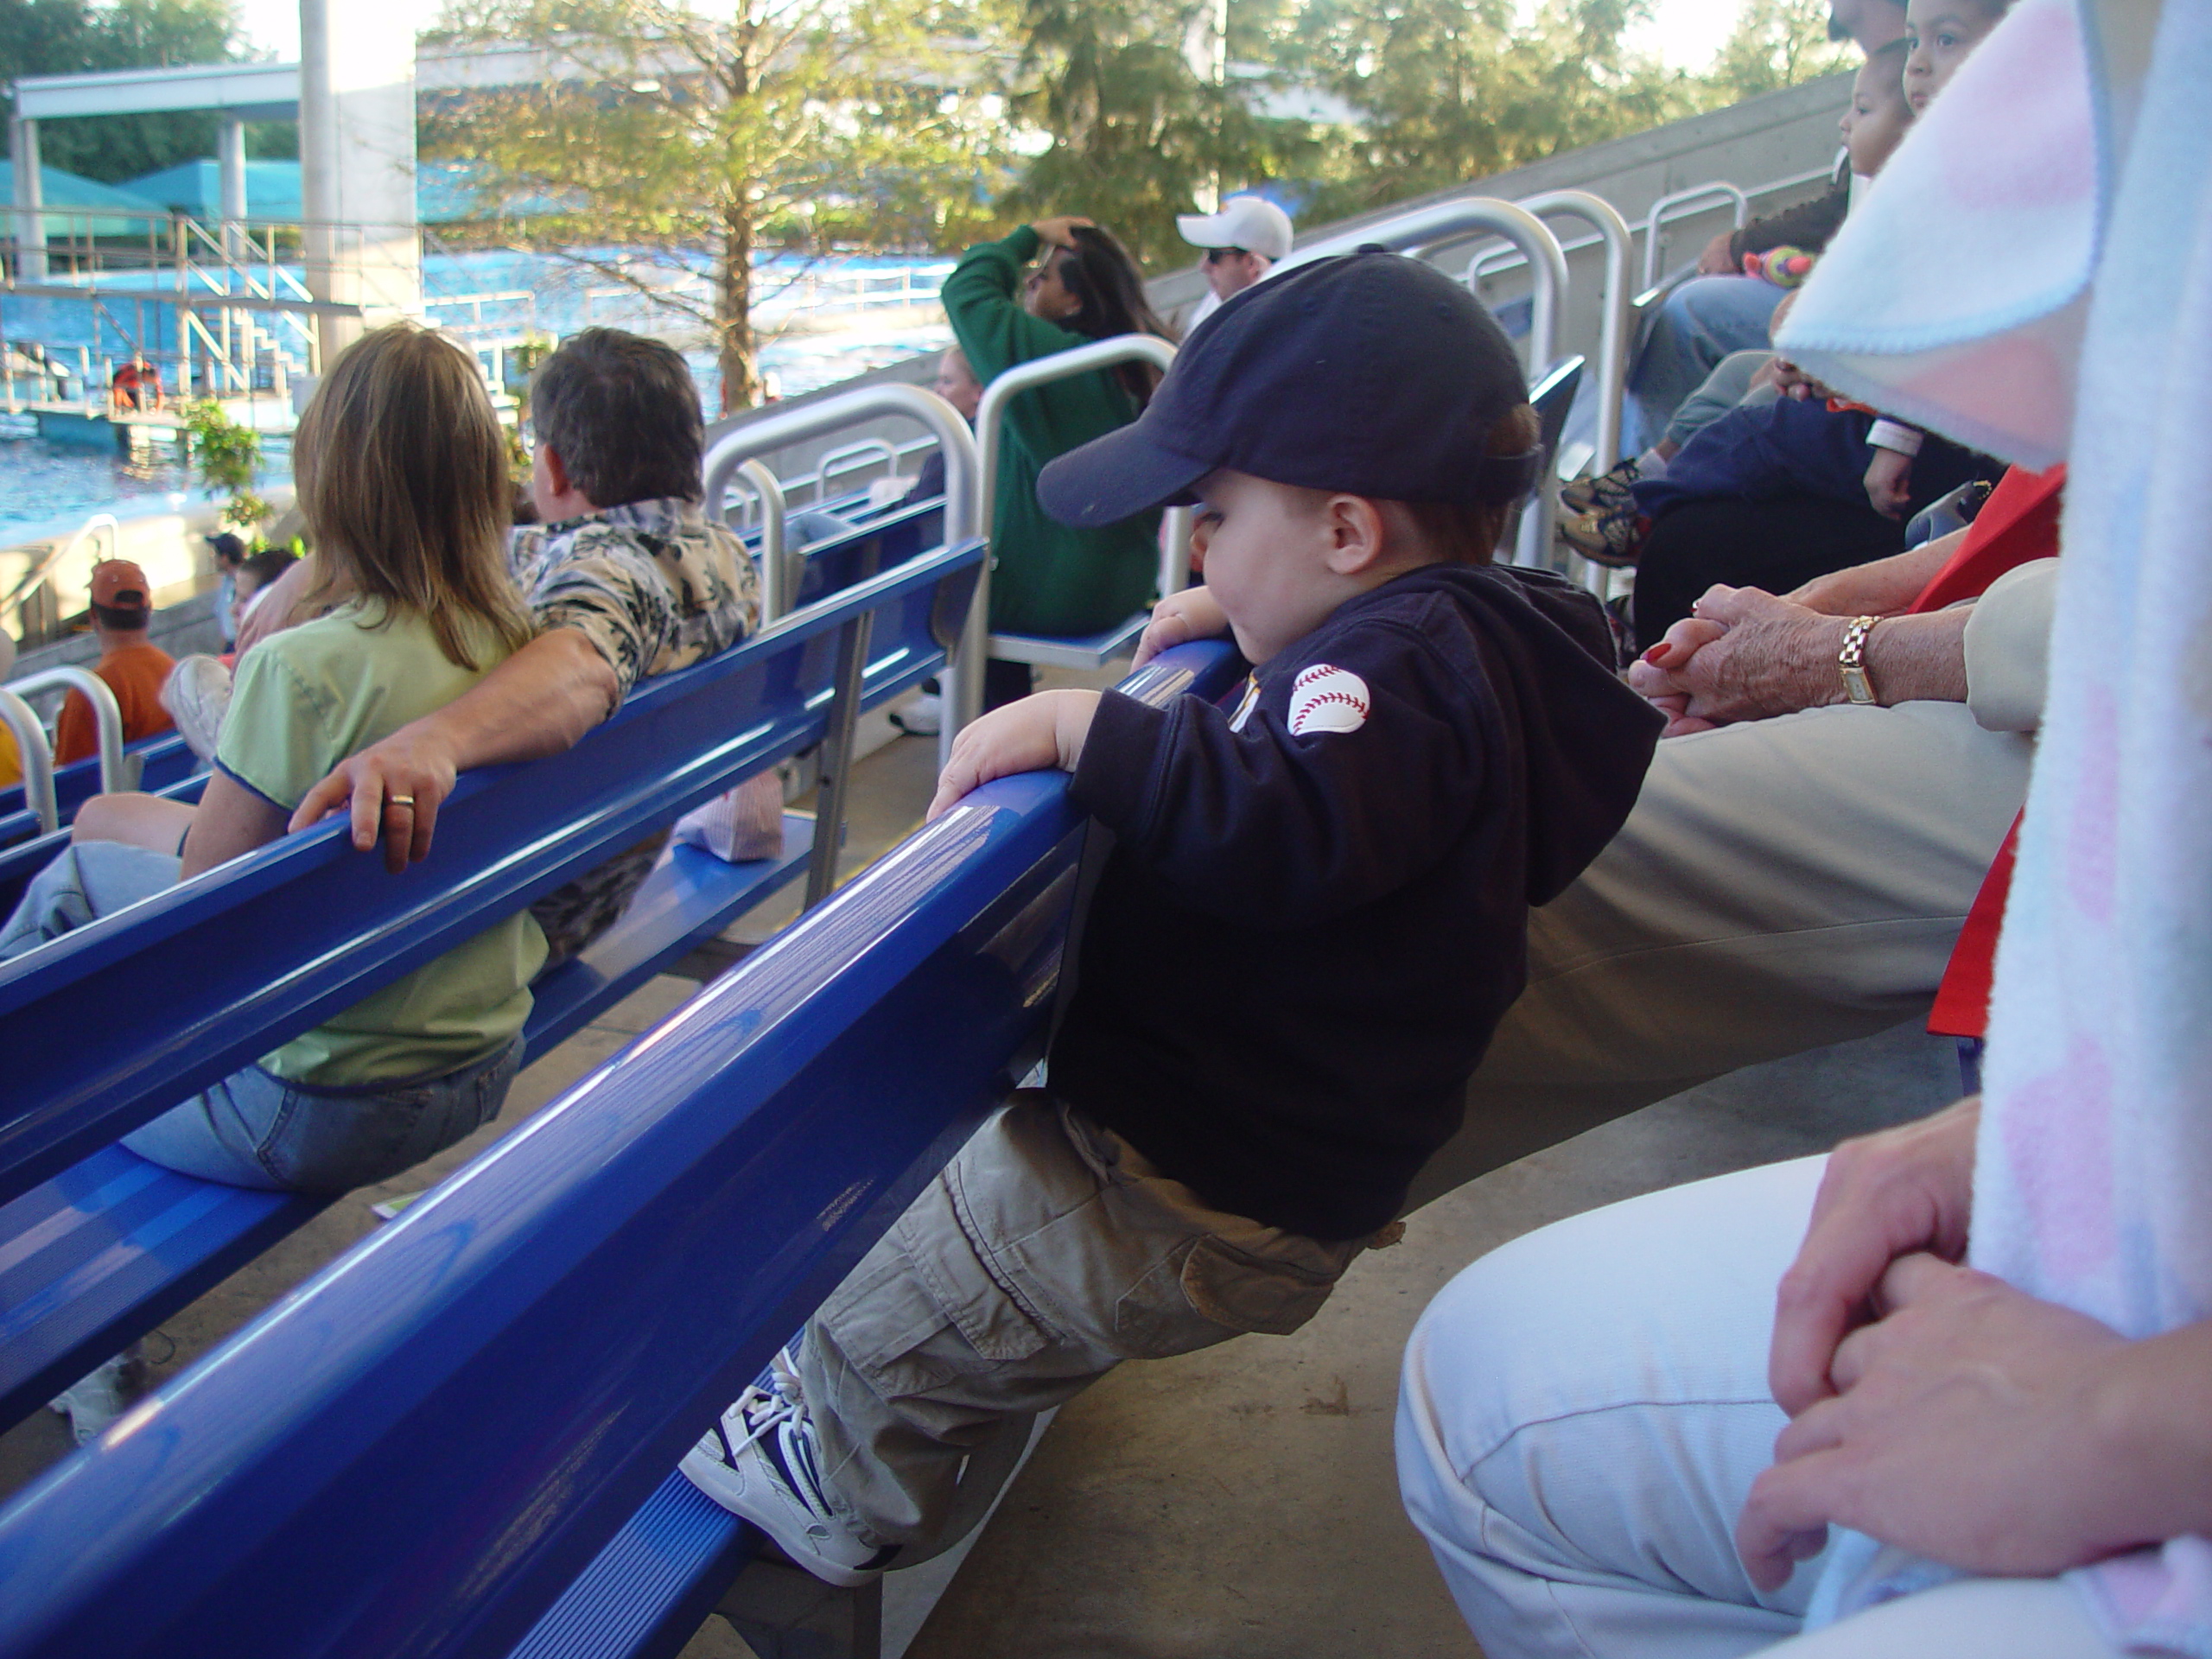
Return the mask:
{"type": "Polygon", "coordinates": [[[1960,1579],[1767,1648],[1765,1659],[2119,1659],[2062,1579],[1960,1579]]]}

